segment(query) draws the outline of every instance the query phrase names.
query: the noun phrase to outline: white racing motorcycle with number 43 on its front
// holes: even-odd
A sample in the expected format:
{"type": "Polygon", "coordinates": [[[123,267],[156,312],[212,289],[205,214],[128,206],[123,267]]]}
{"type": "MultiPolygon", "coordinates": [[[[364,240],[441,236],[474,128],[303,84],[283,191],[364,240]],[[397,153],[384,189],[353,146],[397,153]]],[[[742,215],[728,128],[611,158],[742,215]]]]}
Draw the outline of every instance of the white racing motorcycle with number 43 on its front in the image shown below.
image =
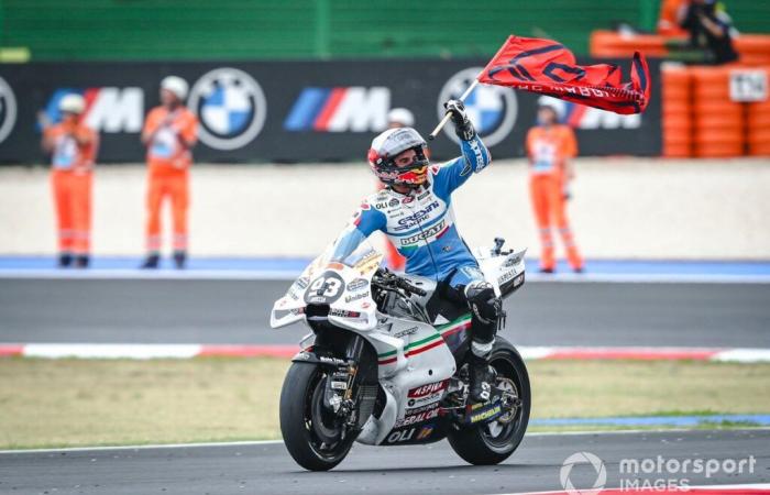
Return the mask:
{"type": "MultiPolygon", "coordinates": [[[[524,285],[525,251],[474,253],[501,297],[524,285]]],[[[273,328],[310,328],[280,393],[280,432],[311,471],[339,464],[354,441],[403,446],[449,440],[471,464],[497,464],[529,421],[529,376],[514,345],[497,337],[491,399],[469,400],[471,312],[431,278],[382,268],[363,242],[344,260],[333,244],[308,265],[271,312],[273,328]]]]}

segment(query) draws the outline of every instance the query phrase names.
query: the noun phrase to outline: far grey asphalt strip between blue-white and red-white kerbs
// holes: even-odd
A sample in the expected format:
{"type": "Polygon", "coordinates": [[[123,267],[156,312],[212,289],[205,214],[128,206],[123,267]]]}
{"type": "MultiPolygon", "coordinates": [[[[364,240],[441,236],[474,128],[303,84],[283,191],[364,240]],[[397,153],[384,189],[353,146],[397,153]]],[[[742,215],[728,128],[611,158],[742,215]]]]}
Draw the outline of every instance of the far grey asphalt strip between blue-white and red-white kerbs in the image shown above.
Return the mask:
{"type": "MultiPolygon", "coordinates": [[[[286,280],[0,279],[0,342],[293,344],[286,280]]],[[[506,299],[519,345],[770,348],[770,284],[529,283],[506,299]]]]}

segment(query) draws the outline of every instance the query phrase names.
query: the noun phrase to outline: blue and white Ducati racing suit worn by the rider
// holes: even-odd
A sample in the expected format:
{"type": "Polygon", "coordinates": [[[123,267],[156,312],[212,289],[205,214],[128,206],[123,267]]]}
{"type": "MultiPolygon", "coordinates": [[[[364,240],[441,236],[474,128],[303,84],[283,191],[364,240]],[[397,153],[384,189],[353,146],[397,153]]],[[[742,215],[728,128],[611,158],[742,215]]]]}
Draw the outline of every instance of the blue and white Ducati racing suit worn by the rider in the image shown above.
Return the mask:
{"type": "Polygon", "coordinates": [[[406,257],[406,273],[447,283],[447,295],[473,311],[472,351],[488,356],[503,315],[502,301],[484,280],[476,258],[460,237],[452,193],[491,162],[484,143],[461,141],[462,156],[431,165],[426,184],[403,195],[391,188],[364,199],[334,245],[334,258],[352,253],[375,230],[388,237],[406,257]]]}

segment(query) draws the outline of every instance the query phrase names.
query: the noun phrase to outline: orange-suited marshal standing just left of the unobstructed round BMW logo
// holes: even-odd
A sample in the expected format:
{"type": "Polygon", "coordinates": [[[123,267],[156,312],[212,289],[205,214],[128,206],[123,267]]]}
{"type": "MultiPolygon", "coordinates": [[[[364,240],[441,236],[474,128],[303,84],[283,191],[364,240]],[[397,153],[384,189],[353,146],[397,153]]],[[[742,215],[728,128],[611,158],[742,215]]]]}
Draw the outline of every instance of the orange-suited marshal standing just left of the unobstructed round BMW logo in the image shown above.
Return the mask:
{"type": "Polygon", "coordinates": [[[198,119],[185,105],[187,82],[168,76],[161,81],[161,106],[150,111],[142,131],[147,147],[147,257],[143,268],[157,268],[161,258],[161,209],[172,204],[174,263],[187,261],[187,208],[191,148],[197,142],[198,119]]]}

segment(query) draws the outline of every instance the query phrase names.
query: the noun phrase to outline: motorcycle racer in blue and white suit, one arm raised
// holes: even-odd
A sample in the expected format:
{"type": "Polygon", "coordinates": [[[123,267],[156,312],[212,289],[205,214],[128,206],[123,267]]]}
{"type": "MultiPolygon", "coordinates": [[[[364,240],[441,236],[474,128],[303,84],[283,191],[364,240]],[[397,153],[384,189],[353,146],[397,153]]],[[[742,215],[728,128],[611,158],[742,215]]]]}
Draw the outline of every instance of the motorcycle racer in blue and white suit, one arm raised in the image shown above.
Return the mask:
{"type": "Polygon", "coordinates": [[[334,245],[343,258],[380,230],[406,257],[406,273],[435,278],[449,298],[468,305],[471,322],[470,398],[490,399],[494,371],[488,365],[502,323],[502,300],[458,232],[452,193],[491,162],[460,100],[444,103],[460,138],[462,156],[431,165],[427,143],[413,128],[388,129],[372,142],[369,163],[387,187],[363,200],[334,245]]]}

